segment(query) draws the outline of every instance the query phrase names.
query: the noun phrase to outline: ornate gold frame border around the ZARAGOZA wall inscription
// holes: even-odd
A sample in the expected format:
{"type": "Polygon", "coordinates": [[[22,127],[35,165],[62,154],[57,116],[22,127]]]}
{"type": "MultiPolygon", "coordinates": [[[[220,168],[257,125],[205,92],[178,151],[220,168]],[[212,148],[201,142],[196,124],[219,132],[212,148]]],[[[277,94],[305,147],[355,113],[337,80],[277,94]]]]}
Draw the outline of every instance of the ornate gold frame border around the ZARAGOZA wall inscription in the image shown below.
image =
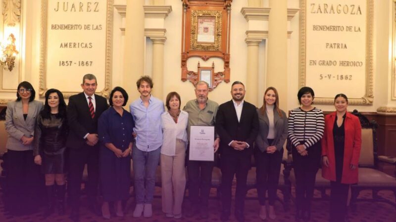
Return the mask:
{"type": "MultiPolygon", "coordinates": [[[[372,105],[374,100],[373,92],[373,21],[374,3],[373,0],[366,0],[367,3],[367,33],[366,33],[366,90],[361,98],[348,98],[349,105],[372,105]]],[[[306,41],[306,0],[300,0],[300,40],[299,40],[299,87],[305,86],[305,41],[306,41]]],[[[315,97],[316,104],[333,104],[334,98],[315,97]]]]}

